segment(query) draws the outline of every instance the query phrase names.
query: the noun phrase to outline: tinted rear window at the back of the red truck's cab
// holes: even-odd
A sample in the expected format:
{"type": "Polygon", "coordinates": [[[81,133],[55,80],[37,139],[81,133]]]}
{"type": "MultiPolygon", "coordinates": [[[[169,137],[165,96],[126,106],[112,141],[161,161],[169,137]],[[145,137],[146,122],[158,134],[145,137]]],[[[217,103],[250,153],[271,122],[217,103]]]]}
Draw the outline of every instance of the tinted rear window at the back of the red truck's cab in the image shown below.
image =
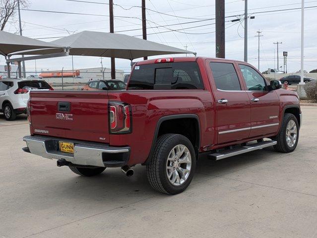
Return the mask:
{"type": "Polygon", "coordinates": [[[128,89],[203,89],[196,62],[153,63],[137,65],[128,89]]]}

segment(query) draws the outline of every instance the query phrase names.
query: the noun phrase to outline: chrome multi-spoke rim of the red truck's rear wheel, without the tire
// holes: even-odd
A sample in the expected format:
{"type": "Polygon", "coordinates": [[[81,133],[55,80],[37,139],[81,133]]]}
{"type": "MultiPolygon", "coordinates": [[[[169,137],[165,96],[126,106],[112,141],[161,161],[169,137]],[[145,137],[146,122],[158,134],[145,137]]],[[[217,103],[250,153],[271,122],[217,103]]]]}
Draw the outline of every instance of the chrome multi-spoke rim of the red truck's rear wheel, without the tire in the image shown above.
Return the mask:
{"type": "Polygon", "coordinates": [[[175,146],[166,162],[168,180],[175,186],[182,185],[190,176],[191,156],[185,145],[175,146]]]}

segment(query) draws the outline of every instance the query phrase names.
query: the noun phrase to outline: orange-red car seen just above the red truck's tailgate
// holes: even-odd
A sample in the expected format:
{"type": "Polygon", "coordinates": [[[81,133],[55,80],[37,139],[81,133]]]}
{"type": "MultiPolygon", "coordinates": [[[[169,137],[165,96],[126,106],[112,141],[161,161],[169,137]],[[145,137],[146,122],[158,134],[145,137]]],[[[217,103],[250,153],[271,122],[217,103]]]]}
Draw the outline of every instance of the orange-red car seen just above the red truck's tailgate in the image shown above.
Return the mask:
{"type": "Polygon", "coordinates": [[[83,86],[81,90],[124,90],[126,86],[127,85],[121,80],[92,80],[83,86]]]}

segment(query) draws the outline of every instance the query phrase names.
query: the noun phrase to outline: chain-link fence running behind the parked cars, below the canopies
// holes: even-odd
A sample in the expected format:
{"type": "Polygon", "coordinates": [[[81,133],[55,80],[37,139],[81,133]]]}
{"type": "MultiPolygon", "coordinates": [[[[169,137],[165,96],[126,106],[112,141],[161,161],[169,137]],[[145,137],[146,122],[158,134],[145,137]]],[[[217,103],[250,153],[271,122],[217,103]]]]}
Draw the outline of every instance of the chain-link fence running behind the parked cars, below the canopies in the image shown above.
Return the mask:
{"type": "MultiPolygon", "coordinates": [[[[126,75],[130,72],[123,70],[116,71],[116,79],[124,81],[126,75]]],[[[11,78],[17,78],[17,72],[10,72],[11,78]]],[[[82,72],[80,70],[67,71],[47,71],[47,72],[25,72],[26,78],[42,78],[55,90],[81,90],[81,88],[91,80],[110,80],[111,73],[108,71],[82,72]]],[[[22,73],[23,75],[23,73],[22,73]]],[[[0,78],[7,77],[7,72],[0,72],[0,78]]]]}

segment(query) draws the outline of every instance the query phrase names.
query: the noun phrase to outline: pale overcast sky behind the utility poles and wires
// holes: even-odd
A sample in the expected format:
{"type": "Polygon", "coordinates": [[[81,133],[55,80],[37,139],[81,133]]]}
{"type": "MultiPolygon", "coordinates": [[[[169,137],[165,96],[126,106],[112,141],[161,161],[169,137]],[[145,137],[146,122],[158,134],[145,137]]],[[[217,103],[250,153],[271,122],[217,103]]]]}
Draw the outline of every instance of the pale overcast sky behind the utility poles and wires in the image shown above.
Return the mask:
{"type": "MultiPolygon", "coordinates": [[[[76,13],[89,13],[109,15],[109,5],[96,3],[82,3],[69,0],[30,0],[29,9],[64,11],[76,13]]],[[[108,3],[108,0],[86,0],[94,2],[108,3]]],[[[243,0],[226,0],[226,16],[240,15],[244,13],[243,0]]],[[[141,0],[114,0],[115,32],[131,29],[134,31],[120,32],[130,36],[140,36],[142,34],[141,0]],[[121,5],[122,7],[120,7],[121,5]],[[126,8],[126,9],[123,9],[126,8]],[[125,17],[123,17],[125,16],[125,17]],[[131,17],[131,18],[126,18],[131,17]]],[[[209,19],[215,16],[214,0],[146,0],[147,39],[150,41],[183,48],[187,46],[189,51],[197,52],[197,56],[215,57],[215,25],[214,20],[206,20],[195,23],[199,19],[209,19]],[[197,4],[195,4],[195,2],[197,4]],[[159,14],[154,11],[163,12],[159,14]],[[172,16],[169,16],[169,15],[172,16]],[[178,17],[175,17],[176,15],[178,17]],[[169,29],[180,32],[169,31],[164,27],[155,28],[158,25],[180,25],[168,26],[169,29]],[[186,23],[186,24],[184,24],[186,23]],[[183,28],[189,28],[184,29],[183,28]],[[181,32],[186,32],[181,33],[181,32]],[[154,33],[154,34],[153,34],[154,33]],[[199,33],[199,34],[197,34],[199,33]],[[205,34],[201,34],[205,33],[205,34]]],[[[249,13],[297,8],[301,7],[301,0],[249,0],[249,13]]],[[[317,0],[306,0],[305,6],[317,6],[317,0]]],[[[257,37],[254,37],[257,30],[262,31],[260,37],[260,70],[274,68],[274,49],[273,42],[282,42],[279,45],[279,65],[283,65],[283,51],[288,52],[288,72],[300,69],[301,56],[301,10],[289,10],[280,12],[254,13],[255,19],[249,19],[248,41],[249,41],[249,62],[257,67],[257,37]]],[[[237,16],[241,17],[241,16],[237,16]]],[[[226,21],[237,18],[227,17],[226,21]]],[[[15,16],[17,19],[17,15],[15,16]]],[[[23,25],[23,35],[31,38],[45,38],[43,41],[53,41],[68,34],[90,30],[109,32],[109,17],[89,16],[65,13],[49,13],[37,11],[21,11],[23,25]]],[[[226,22],[226,58],[233,60],[244,59],[244,23],[226,22]]],[[[17,22],[12,21],[5,28],[5,31],[14,33],[18,30],[17,22]]],[[[305,10],[305,69],[312,70],[317,68],[317,8],[305,10]]],[[[179,55],[181,56],[181,55],[179,55]]],[[[275,52],[275,68],[277,67],[275,52]]],[[[138,59],[141,60],[141,59],[138,59]]],[[[137,61],[137,60],[136,60],[137,61]]],[[[4,58],[0,57],[0,64],[4,64],[4,58]]],[[[103,58],[104,67],[110,67],[110,59],[103,58]]],[[[116,68],[128,70],[129,60],[116,60],[116,68]]],[[[74,68],[100,67],[100,58],[74,56],[74,68]]],[[[38,71],[71,69],[71,57],[56,59],[37,60],[38,71]]],[[[26,61],[27,70],[34,70],[34,60],[26,61]]]]}

